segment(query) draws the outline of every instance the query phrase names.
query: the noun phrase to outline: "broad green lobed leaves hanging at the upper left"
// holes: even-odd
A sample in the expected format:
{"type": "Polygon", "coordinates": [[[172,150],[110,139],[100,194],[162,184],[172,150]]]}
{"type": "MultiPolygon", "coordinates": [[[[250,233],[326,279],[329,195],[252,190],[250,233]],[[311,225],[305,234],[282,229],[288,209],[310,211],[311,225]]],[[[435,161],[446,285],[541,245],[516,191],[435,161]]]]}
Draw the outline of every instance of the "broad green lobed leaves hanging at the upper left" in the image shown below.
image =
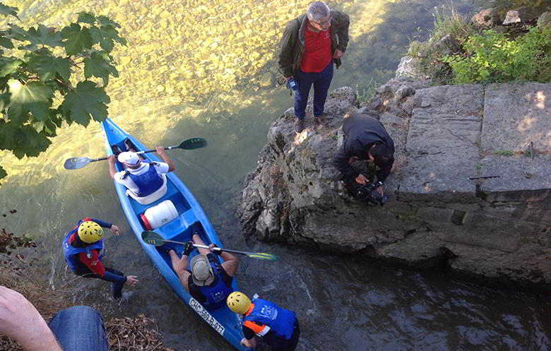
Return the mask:
{"type": "MultiPolygon", "coordinates": [[[[4,16],[18,18],[17,11],[0,3],[4,16]]],[[[10,49],[0,50],[0,150],[37,156],[64,121],[87,126],[107,118],[105,87],[109,76],[119,76],[110,52],[115,42],[126,45],[117,28],[105,16],[81,12],[60,30],[13,23],[0,30],[0,46],[10,49]]]]}

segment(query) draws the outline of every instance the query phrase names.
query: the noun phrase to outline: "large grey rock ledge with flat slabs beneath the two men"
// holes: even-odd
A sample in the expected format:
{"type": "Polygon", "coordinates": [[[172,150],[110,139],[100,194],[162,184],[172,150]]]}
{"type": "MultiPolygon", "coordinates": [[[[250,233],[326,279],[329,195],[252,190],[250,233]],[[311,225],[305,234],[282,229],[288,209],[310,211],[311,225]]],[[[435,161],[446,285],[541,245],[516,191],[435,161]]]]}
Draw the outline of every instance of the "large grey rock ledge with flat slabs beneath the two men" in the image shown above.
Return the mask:
{"type": "Polygon", "coordinates": [[[315,126],[309,106],[298,135],[288,110],[245,180],[245,232],[549,290],[551,84],[426,84],[393,79],[371,109],[339,88],[330,125],[315,126]],[[355,112],[378,114],[396,144],[384,207],[350,197],[331,165],[355,112]],[[484,176],[501,177],[468,179],[484,176]]]}

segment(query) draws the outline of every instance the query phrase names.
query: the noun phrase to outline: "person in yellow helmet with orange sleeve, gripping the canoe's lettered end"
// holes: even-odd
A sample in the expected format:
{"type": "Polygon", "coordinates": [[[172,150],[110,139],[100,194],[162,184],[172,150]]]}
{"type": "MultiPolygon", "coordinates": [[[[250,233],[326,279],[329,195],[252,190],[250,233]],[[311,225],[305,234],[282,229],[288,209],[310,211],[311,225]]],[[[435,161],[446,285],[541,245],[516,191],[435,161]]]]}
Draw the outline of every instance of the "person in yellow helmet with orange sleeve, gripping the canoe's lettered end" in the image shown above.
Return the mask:
{"type": "Polygon", "coordinates": [[[297,348],[300,328],[295,312],[263,299],[251,302],[238,291],[232,292],[226,302],[227,307],[241,316],[244,335],[241,343],[245,347],[256,347],[256,339],[262,338],[273,351],[297,348]]]}

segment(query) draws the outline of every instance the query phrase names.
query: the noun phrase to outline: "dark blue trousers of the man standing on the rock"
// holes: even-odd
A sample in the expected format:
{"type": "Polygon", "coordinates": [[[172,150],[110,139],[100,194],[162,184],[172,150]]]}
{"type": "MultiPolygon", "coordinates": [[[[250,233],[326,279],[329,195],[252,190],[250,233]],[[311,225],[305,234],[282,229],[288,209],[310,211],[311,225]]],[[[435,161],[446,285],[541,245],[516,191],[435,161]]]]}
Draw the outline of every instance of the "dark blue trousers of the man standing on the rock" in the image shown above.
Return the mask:
{"type": "Polygon", "coordinates": [[[333,60],[327,67],[318,73],[304,73],[300,69],[295,72],[297,91],[295,93],[295,116],[299,119],[306,117],[306,105],[310,87],[314,84],[314,116],[321,116],[324,113],[325,100],[331,80],[333,79],[333,60]]]}

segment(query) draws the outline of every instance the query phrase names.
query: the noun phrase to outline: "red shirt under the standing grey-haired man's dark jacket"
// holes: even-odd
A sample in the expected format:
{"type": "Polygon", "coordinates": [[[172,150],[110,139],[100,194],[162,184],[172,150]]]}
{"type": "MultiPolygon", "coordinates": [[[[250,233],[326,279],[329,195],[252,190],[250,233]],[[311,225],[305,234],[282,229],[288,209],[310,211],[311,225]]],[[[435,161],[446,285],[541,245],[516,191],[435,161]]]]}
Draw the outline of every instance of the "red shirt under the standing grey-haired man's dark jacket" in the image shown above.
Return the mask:
{"type": "Polygon", "coordinates": [[[304,32],[306,42],[300,70],[306,73],[321,72],[333,59],[331,57],[331,32],[330,30],[312,32],[308,28],[304,32]]]}

